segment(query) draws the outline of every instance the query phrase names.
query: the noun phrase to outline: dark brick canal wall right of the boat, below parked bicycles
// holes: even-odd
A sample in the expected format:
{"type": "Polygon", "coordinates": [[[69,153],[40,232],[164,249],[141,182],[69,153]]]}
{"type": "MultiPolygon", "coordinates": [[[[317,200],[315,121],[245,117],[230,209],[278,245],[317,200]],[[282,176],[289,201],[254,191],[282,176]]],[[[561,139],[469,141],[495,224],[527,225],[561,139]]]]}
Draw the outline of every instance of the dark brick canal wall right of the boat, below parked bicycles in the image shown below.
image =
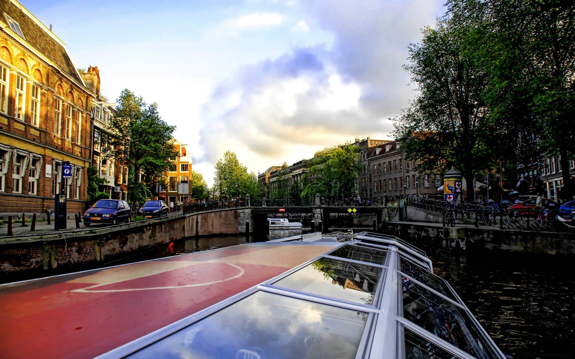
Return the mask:
{"type": "Polygon", "coordinates": [[[382,232],[402,240],[443,249],[575,254],[575,234],[474,226],[443,227],[437,223],[384,222],[382,232]]]}

